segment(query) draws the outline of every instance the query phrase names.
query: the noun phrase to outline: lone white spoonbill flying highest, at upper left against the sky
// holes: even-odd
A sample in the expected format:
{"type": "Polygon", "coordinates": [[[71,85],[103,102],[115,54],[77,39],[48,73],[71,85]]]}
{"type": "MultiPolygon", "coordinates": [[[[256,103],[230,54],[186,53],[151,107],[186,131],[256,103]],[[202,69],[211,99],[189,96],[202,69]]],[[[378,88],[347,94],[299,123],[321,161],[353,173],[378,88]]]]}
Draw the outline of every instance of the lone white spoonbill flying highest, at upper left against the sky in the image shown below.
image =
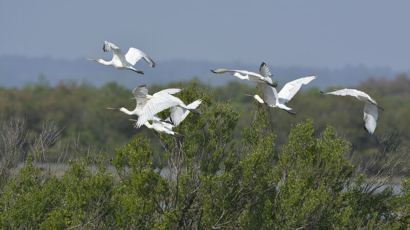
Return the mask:
{"type": "Polygon", "coordinates": [[[96,61],[98,63],[101,63],[103,65],[114,65],[114,67],[117,70],[132,70],[134,72],[137,72],[138,74],[144,74],[144,72],[136,70],[133,65],[139,61],[139,59],[144,58],[151,67],[155,67],[154,61],[151,60],[150,57],[148,57],[144,52],[135,49],[135,48],[130,48],[127,52],[126,55],[122,53],[122,51],[113,43],[104,41],[104,47],[103,51],[104,52],[109,52],[110,49],[112,49],[113,57],[111,61],[105,61],[103,59],[89,59],[86,58],[85,60],[92,60],[96,61]]]}

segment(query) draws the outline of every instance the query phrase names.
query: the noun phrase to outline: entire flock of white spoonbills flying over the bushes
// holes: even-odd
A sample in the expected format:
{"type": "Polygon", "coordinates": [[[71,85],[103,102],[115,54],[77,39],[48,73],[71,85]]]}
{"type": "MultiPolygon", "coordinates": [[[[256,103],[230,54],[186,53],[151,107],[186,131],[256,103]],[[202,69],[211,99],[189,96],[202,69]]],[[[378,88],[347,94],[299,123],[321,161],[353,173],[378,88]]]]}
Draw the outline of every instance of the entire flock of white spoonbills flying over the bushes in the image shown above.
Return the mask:
{"type": "MultiPolygon", "coordinates": [[[[151,65],[151,67],[155,67],[155,62],[144,52],[136,48],[130,48],[127,54],[124,55],[124,53],[122,53],[122,51],[115,44],[104,41],[103,51],[109,52],[110,50],[112,50],[113,52],[113,58],[111,61],[89,58],[86,58],[85,60],[97,61],[98,63],[104,65],[113,65],[115,68],[117,68],[117,70],[132,70],[138,74],[144,74],[144,72],[136,70],[136,68],[134,68],[134,65],[141,58],[147,61],[151,65]]],[[[292,108],[286,106],[285,103],[289,102],[293,98],[293,96],[295,96],[302,85],[310,83],[317,77],[316,75],[311,75],[288,82],[278,93],[276,90],[278,84],[273,82],[273,75],[264,62],[262,62],[262,64],[260,65],[259,74],[244,70],[227,70],[225,68],[217,68],[215,70],[211,70],[211,72],[215,74],[227,73],[241,80],[248,80],[250,82],[256,83],[258,85],[261,96],[257,94],[245,94],[246,96],[251,96],[259,103],[266,104],[269,107],[278,107],[280,109],[283,109],[284,111],[291,114],[292,117],[296,117],[297,114],[296,112],[290,111],[292,110],[292,108]]],[[[376,100],[357,89],[345,88],[334,90],[335,91],[330,93],[323,93],[322,91],[320,91],[320,93],[339,96],[349,95],[356,97],[359,101],[364,102],[363,126],[368,133],[373,134],[376,129],[376,121],[378,118],[377,109],[379,108],[383,110],[382,107],[377,105],[376,100]]],[[[158,91],[153,95],[149,95],[147,86],[141,85],[134,88],[134,90],[132,91],[134,95],[133,99],[136,100],[136,107],[134,110],[130,111],[124,107],[108,107],[107,109],[115,109],[129,115],[137,116],[137,120],[129,119],[130,121],[135,121],[135,128],[139,128],[142,125],[145,125],[149,129],[154,129],[159,133],[168,133],[176,137],[181,137],[183,135],[173,131],[172,128],[178,126],[190,112],[198,115],[199,112],[195,111],[194,109],[196,109],[201,104],[202,100],[198,99],[187,105],[179,98],[173,96],[180,91],[181,89],[179,88],[168,88],[158,91]],[[162,120],[160,117],[158,117],[157,113],[168,108],[170,109],[170,117],[168,117],[166,120],[162,120]],[[150,123],[150,121],[152,124],[150,123]]]]}

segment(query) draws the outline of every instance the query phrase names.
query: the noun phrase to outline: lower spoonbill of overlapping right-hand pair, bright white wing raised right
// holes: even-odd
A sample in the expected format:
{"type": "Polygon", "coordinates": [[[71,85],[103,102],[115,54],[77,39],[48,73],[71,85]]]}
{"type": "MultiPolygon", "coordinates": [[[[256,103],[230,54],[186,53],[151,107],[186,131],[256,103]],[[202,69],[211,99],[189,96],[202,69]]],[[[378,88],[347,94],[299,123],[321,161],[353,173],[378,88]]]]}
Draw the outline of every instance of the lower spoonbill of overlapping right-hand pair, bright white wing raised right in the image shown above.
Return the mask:
{"type": "MultiPolygon", "coordinates": [[[[262,63],[263,65],[264,63],[262,63]]],[[[261,66],[260,70],[260,75],[262,76],[270,76],[271,72],[269,71],[268,66],[264,65],[263,68],[261,66]]],[[[312,75],[309,77],[304,77],[304,78],[299,78],[294,81],[288,82],[283,86],[283,88],[278,92],[276,91],[276,88],[263,84],[263,83],[257,83],[258,88],[260,91],[260,94],[262,95],[262,98],[259,97],[259,95],[248,95],[245,94],[246,96],[251,96],[255,98],[259,103],[261,104],[267,104],[269,107],[279,107],[289,114],[291,114],[292,117],[296,117],[296,113],[290,111],[291,108],[288,106],[284,105],[284,103],[289,102],[293,96],[299,91],[300,87],[302,85],[308,84],[312,80],[316,78],[316,75],[312,75]]]]}

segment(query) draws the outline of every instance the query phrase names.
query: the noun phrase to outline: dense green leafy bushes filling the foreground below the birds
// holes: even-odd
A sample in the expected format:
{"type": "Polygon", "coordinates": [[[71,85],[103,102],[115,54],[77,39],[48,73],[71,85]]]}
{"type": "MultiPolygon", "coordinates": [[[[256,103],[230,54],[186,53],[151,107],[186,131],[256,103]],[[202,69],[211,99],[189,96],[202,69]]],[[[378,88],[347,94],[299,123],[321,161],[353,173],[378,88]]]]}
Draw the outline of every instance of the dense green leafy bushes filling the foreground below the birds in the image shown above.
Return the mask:
{"type": "MultiPolygon", "coordinates": [[[[119,88],[111,84],[103,89],[110,91],[110,87],[119,88]]],[[[283,148],[278,149],[278,137],[273,132],[277,129],[276,114],[272,116],[267,106],[253,103],[247,116],[242,116],[248,119],[248,125],[236,136],[234,130],[238,129],[241,112],[232,106],[233,102],[215,102],[212,93],[195,84],[183,88],[178,97],[188,102],[202,98],[197,109],[200,115],[190,114],[175,128],[185,135],[183,139],[167,134],[154,137],[165,152],[163,157],[152,148],[149,137],[136,134],[128,144],[115,149],[112,160],[108,160],[107,152],[94,153],[75,146],[81,156],[68,160],[65,171],[56,175],[42,169],[47,156],[61,155],[65,149],[55,147],[57,140],[53,137],[57,132],[50,123],[42,126],[44,134],[38,139],[27,140],[38,145],[10,148],[6,137],[1,145],[2,154],[9,149],[23,152],[25,163],[18,174],[5,175],[8,180],[1,184],[0,227],[409,226],[410,181],[403,182],[403,196],[397,196],[389,187],[376,191],[377,186],[368,186],[364,180],[366,170],[360,171],[361,167],[351,163],[351,144],[331,126],[318,131],[321,128],[315,126],[313,119],[291,125],[283,148]],[[47,135],[49,130],[54,134],[47,135]],[[158,167],[154,160],[159,162],[158,167]],[[115,168],[115,172],[110,168],[115,168]]],[[[165,113],[160,116],[166,117],[165,113]]],[[[103,124],[99,119],[93,121],[103,124]]],[[[2,136],[6,130],[16,130],[8,127],[3,127],[2,136]]],[[[106,132],[106,136],[117,132],[119,135],[118,129],[100,131],[106,132]]],[[[16,145],[23,142],[18,140],[16,145]]],[[[386,145],[389,151],[383,152],[386,159],[389,155],[398,156],[393,157],[393,165],[405,161],[397,152],[409,153],[407,148],[399,147],[386,145]]],[[[392,162],[381,168],[392,169],[395,174],[392,162]]],[[[379,172],[381,176],[387,175],[382,178],[389,178],[389,174],[383,174],[389,170],[379,172]]]]}

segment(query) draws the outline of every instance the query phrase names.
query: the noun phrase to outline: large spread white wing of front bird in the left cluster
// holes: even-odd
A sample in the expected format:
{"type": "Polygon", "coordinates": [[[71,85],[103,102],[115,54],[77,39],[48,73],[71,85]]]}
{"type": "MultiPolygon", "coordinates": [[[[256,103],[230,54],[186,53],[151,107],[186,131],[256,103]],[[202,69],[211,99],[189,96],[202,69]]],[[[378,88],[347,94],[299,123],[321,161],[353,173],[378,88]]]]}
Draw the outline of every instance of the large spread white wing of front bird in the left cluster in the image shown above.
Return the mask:
{"type": "Polygon", "coordinates": [[[144,109],[142,109],[142,113],[137,120],[136,127],[141,127],[141,125],[146,121],[151,120],[156,113],[171,106],[179,105],[180,103],[181,100],[179,98],[176,98],[170,94],[155,93],[153,98],[148,100],[144,109]]]}

